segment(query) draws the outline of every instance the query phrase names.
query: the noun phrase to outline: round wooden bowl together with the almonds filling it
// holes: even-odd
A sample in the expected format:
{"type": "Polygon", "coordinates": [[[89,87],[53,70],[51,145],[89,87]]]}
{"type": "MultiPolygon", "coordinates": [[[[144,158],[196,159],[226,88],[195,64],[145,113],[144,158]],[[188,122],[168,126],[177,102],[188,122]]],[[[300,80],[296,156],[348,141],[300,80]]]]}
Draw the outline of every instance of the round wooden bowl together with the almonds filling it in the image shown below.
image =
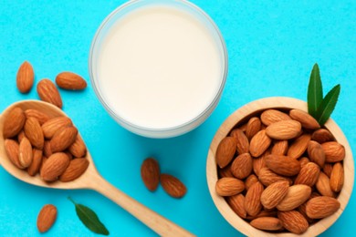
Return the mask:
{"type": "Polygon", "coordinates": [[[316,236],[346,208],[354,180],[350,145],[332,119],[320,128],[307,111],[295,98],[263,98],[237,109],[216,132],[209,191],[237,231],[316,236]]]}

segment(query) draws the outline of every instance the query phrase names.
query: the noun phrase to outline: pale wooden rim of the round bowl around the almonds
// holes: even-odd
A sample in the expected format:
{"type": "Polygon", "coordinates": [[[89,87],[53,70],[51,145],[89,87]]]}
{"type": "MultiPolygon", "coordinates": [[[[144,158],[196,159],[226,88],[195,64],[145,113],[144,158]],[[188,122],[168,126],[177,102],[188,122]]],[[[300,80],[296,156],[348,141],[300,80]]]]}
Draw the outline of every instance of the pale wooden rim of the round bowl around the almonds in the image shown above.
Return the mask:
{"type": "MultiPolygon", "coordinates": [[[[298,108],[304,111],[308,111],[307,103],[296,98],[262,98],[253,101],[242,108],[237,109],[232,115],[230,115],[221,127],[215,133],[215,137],[210,145],[206,162],[206,178],[210,194],[215,202],[215,206],[224,216],[225,220],[229,222],[237,231],[246,234],[247,236],[293,236],[295,234],[283,232],[283,233],[270,233],[257,230],[252,227],[248,222],[240,218],[227,204],[223,197],[220,197],[215,192],[215,183],[218,180],[217,166],[215,162],[215,152],[218,144],[224,139],[227,134],[234,129],[237,123],[246,120],[246,118],[252,117],[258,111],[262,111],[268,108],[298,108]]],[[[300,236],[317,236],[321,232],[327,230],[336,220],[340,217],[342,211],[346,208],[346,205],[351,197],[351,191],[354,179],[353,159],[351,148],[345,135],[339,128],[339,126],[329,119],[325,124],[325,127],[330,130],[335,139],[345,147],[346,156],[343,160],[343,167],[345,172],[345,180],[338,200],[340,201],[340,209],[331,216],[322,219],[309,226],[307,232],[300,236]]]]}

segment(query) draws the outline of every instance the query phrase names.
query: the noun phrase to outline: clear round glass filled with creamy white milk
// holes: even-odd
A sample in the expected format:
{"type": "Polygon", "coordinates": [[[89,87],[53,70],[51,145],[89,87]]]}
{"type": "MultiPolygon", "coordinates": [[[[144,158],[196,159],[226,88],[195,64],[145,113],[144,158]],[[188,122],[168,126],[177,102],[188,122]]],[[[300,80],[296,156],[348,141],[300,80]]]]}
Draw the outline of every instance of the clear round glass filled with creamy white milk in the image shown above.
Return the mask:
{"type": "Polygon", "coordinates": [[[214,21],[187,1],[129,1],[99,26],[89,74],[122,127],[174,137],[215,109],[227,74],[225,41],[214,21]]]}

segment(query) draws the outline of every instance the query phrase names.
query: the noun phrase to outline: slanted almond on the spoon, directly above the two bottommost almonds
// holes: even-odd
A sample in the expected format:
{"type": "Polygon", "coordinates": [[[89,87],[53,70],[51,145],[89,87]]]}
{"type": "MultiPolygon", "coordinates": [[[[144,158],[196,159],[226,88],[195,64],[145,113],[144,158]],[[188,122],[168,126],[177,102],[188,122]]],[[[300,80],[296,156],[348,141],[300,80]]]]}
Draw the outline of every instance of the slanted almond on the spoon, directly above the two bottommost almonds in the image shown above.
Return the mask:
{"type": "Polygon", "coordinates": [[[68,147],[76,140],[77,135],[78,129],[73,126],[59,129],[50,141],[52,152],[55,153],[68,149],[68,147]]]}

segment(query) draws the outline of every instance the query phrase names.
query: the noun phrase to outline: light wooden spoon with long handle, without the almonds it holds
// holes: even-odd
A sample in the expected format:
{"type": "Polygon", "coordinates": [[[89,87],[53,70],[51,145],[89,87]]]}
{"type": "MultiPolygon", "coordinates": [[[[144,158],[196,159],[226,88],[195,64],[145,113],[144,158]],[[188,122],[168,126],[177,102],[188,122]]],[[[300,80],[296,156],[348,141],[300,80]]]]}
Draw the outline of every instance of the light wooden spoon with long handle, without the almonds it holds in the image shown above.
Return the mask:
{"type": "Polygon", "coordinates": [[[6,108],[4,113],[0,116],[0,164],[8,173],[16,177],[18,180],[23,180],[27,183],[45,188],[63,190],[89,189],[98,191],[102,195],[109,198],[111,201],[116,202],[124,210],[129,211],[134,217],[139,219],[141,222],[150,227],[152,231],[157,232],[161,236],[194,236],[192,233],[187,232],[182,227],[143,206],[140,202],[133,200],[127,194],[112,186],[107,180],[104,180],[100,176],[98,170],[95,168],[89,151],[87,152],[86,156],[86,158],[89,160],[88,170],[86,170],[85,173],[79,177],[79,179],[69,182],[45,182],[44,180],[41,180],[39,175],[32,177],[29,176],[26,171],[16,168],[16,166],[7,158],[3,136],[4,120],[8,113],[16,107],[22,108],[24,111],[27,108],[34,108],[46,113],[51,118],[67,116],[59,108],[46,102],[37,100],[20,101],[6,108]]]}

